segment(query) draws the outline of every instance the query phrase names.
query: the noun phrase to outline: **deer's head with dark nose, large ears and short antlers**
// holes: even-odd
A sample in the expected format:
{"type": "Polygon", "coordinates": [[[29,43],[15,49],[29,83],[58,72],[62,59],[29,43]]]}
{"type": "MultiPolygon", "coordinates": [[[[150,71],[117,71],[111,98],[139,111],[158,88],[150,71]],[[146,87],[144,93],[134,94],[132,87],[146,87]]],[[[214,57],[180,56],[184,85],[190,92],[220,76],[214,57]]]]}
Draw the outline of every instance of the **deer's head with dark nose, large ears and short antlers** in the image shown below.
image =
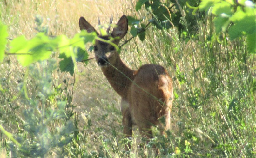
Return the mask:
{"type": "MultiPolygon", "coordinates": [[[[110,19],[110,24],[113,19],[110,19]]],[[[99,20],[98,20],[99,21],[99,20]]],[[[99,22],[100,24],[100,22],[99,22]]],[[[95,28],[87,22],[84,17],[80,17],[79,19],[79,27],[80,30],[86,30],[88,33],[96,32],[95,28]]],[[[110,27],[107,29],[107,33],[109,33],[110,27]]],[[[120,42],[120,40],[125,36],[128,30],[128,20],[125,15],[123,15],[119,21],[117,22],[116,26],[113,28],[111,34],[106,36],[102,36],[97,33],[99,38],[104,40],[110,40],[111,38],[115,38],[112,42],[116,45],[120,42]]],[[[109,66],[114,65],[118,58],[118,52],[114,46],[109,43],[103,42],[101,40],[96,40],[94,44],[94,54],[96,61],[99,66],[109,66]]]]}

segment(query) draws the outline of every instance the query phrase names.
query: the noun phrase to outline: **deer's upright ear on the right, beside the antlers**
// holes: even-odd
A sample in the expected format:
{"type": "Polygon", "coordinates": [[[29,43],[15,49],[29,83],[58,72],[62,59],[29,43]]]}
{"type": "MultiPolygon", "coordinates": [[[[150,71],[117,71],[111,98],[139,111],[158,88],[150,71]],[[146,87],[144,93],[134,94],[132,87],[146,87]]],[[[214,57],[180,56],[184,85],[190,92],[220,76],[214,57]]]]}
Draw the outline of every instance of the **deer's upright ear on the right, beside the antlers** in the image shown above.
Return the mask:
{"type": "Polygon", "coordinates": [[[128,30],[128,19],[123,15],[120,20],[117,22],[116,27],[113,29],[111,35],[112,37],[123,38],[128,30]]]}

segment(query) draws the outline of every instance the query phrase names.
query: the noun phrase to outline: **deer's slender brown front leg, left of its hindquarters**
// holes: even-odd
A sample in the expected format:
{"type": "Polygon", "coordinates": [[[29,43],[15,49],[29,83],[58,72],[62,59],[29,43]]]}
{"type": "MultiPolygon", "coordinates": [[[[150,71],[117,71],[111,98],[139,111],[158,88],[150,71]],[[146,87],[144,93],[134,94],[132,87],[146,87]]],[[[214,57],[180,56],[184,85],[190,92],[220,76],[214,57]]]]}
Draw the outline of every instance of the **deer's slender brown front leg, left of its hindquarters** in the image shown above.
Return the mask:
{"type": "MultiPolygon", "coordinates": [[[[121,101],[121,112],[123,116],[122,125],[123,125],[123,133],[125,137],[129,139],[132,135],[132,120],[131,120],[131,113],[128,102],[125,100],[121,101]]],[[[127,146],[125,146],[125,151],[128,151],[131,149],[131,145],[128,143],[127,146]]]]}

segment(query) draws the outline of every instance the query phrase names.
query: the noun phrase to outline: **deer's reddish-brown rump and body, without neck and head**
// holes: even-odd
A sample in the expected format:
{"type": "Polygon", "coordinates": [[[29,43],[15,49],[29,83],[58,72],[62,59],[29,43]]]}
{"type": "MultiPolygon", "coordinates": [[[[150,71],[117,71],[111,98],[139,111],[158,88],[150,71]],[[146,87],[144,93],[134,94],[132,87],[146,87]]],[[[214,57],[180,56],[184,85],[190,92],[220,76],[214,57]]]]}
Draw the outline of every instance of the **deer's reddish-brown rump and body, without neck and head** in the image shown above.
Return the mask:
{"type": "Polygon", "coordinates": [[[131,119],[133,125],[138,125],[139,131],[146,137],[152,137],[152,125],[160,124],[161,132],[170,129],[173,92],[168,72],[160,65],[145,64],[134,75],[129,93],[121,96],[123,117],[131,119]],[[165,117],[163,124],[158,121],[162,116],[165,117]]]}

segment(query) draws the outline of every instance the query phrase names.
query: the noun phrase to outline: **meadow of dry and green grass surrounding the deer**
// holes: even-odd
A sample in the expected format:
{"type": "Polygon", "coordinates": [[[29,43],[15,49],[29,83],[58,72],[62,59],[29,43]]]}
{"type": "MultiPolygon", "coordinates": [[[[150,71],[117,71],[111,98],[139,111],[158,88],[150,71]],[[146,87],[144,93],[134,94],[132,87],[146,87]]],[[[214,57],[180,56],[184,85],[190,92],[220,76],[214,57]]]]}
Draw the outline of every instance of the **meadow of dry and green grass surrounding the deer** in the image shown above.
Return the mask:
{"type": "MultiPolygon", "coordinates": [[[[151,12],[136,11],[136,2],[0,1],[0,20],[8,25],[9,39],[34,37],[36,15],[43,17],[49,35],[72,38],[80,32],[80,16],[95,27],[98,17],[108,23],[113,15],[116,23],[123,14],[145,16],[147,24],[151,12]]],[[[131,68],[160,64],[173,77],[172,129],[167,138],[155,130],[149,144],[136,127],[131,141],[123,139],[120,97],[94,60],[77,63],[71,76],[56,68],[58,52],[52,53],[54,60],[28,67],[8,55],[0,65],[1,157],[123,157],[126,143],[132,144],[131,157],[153,156],[152,144],[160,156],[255,157],[255,54],[247,52],[244,37],[231,41],[223,33],[212,40],[210,16],[196,26],[197,33],[189,36],[152,25],[144,41],[136,37],[122,47],[121,58],[131,68]],[[139,148],[143,145],[147,148],[139,148]]]]}

